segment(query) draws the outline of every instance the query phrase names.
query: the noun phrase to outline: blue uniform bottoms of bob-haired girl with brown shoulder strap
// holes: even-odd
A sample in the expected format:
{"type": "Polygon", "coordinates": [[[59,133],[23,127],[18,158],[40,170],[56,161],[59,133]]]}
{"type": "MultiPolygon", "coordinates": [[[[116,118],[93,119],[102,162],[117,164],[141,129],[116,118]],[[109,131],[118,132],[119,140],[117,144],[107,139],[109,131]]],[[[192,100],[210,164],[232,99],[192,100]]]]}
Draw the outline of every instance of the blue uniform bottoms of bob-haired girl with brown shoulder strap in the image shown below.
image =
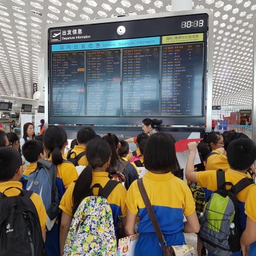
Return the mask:
{"type": "MultiPolygon", "coordinates": [[[[185,238],[182,231],[164,235],[167,245],[183,245],[185,238]]],[[[140,233],[137,244],[135,246],[135,256],[159,256],[162,255],[162,249],[159,245],[157,235],[154,233],[140,233]]]]}

